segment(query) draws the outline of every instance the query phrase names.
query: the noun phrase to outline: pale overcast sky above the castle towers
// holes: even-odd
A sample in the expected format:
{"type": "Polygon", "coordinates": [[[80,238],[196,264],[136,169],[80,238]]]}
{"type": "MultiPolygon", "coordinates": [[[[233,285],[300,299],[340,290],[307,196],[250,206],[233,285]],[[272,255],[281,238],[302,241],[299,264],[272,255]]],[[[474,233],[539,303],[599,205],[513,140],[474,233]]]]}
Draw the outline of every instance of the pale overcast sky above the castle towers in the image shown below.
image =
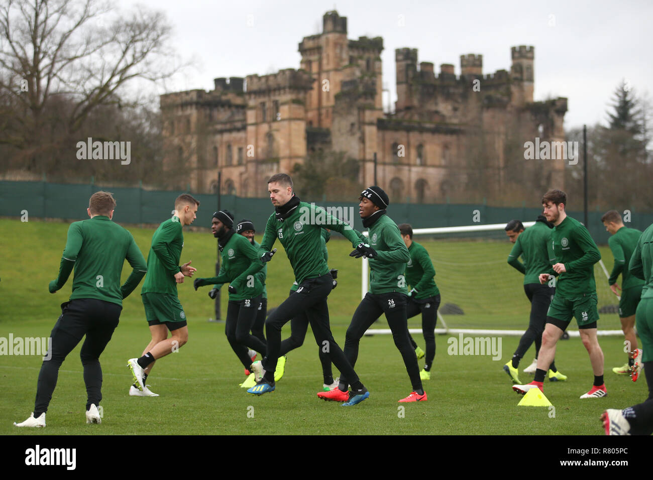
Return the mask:
{"type": "MultiPolygon", "coordinates": [[[[121,0],[129,9],[133,2],[121,0]]],[[[418,49],[418,61],[453,63],[482,54],[483,74],[510,70],[510,48],[535,47],[535,100],[567,97],[565,128],[605,123],[614,89],[628,82],[650,94],[652,1],[202,1],[140,0],[163,10],[176,52],[195,67],[168,91],[213,89],[216,77],[299,68],[298,43],[321,33],[334,8],[347,17],[347,37],[383,37],[383,84],[396,100],[394,50],[418,49]],[[399,26],[399,16],[405,26],[399,26]],[[253,21],[253,26],[247,22],[253,21]],[[645,30],[646,28],[646,30],[645,30]],[[648,89],[648,91],[647,91],[648,89]]],[[[482,88],[482,87],[481,87],[482,88]]],[[[161,92],[163,93],[163,88],[161,92]]],[[[384,105],[387,98],[384,98],[384,105]]]]}

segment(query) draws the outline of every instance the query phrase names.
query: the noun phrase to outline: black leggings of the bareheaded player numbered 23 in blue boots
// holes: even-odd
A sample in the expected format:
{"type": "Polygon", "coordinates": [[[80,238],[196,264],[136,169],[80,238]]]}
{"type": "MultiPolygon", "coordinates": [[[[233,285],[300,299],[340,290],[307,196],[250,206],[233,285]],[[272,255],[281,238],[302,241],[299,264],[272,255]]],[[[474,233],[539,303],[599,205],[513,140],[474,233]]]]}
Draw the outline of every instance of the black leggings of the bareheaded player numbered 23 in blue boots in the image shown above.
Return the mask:
{"type": "MultiPolygon", "coordinates": [[[[331,334],[328,318],[327,296],[333,289],[333,278],[330,274],[311,278],[302,282],[291,296],[286,298],[279,307],[270,313],[265,321],[265,333],[268,339],[268,354],[263,359],[266,379],[272,381],[277,359],[281,355],[281,328],[294,319],[297,328],[310,323],[317,345],[327,353],[341,374],[346,374],[353,388],[362,387],[351,364],[347,362],[342,349],[331,334]]],[[[304,327],[308,328],[308,327],[304,327]]],[[[306,331],[306,330],[304,330],[306,331]]]]}

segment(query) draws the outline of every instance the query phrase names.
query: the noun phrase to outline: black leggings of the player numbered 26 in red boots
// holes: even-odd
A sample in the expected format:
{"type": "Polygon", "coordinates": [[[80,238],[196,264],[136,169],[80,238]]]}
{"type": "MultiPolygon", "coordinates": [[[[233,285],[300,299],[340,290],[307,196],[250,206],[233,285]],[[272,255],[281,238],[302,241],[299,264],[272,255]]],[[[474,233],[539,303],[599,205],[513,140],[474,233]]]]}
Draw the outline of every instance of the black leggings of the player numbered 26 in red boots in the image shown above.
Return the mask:
{"type": "MultiPolygon", "coordinates": [[[[360,301],[360,304],[358,304],[358,308],[351,319],[351,324],[347,328],[345,357],[347,357],[350,364],[356,364],[360,339],[366,330],[372,326],[372,323],[385,312],[385,318],[388,321],[390,330],[392,330],[394,345],[396,345],[402,354],[413,391],[418,391],[422,388],[422,381],[419,378],[419,366],[417,366],[415,349],[411,348],[410,340],[408,339],[406,298],[406,295],[397,292],[383,293],[380,295],[366,293],[365,297],[360,301]]],[[[348,379],[349,377],[345,376],[341,370],[340,382],[346,384],[348,379]]]]}

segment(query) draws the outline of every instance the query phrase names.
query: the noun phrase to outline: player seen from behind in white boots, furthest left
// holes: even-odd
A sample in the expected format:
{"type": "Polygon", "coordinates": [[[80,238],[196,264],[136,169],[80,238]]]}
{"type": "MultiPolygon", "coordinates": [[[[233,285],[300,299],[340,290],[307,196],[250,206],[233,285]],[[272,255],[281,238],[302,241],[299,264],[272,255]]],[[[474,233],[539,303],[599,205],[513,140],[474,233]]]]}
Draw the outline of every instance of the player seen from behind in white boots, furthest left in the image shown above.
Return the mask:
{"type": "Polygon", "coordinates": [[[112,222],[116,200],[111,193],[93,193],[88,205],[89,220],[71,223],[61,257],[59,276],[48,289],[63,288],[74,266],[72,295],[61,304],[61,315],[50,334],[48,353],[40,368],[34,411],[21,427],[46,426],[45,414],[57,385],[59,367],[86,335],[80,357],[86,384],[86,423],[102,423],[98,406],[102,400],[102,368],[99,357],[111,340],[122,310],[122,301],[147,271],[133,236],[112,222]],[[120,286],[125,259],[133,268],[120,286]]]}

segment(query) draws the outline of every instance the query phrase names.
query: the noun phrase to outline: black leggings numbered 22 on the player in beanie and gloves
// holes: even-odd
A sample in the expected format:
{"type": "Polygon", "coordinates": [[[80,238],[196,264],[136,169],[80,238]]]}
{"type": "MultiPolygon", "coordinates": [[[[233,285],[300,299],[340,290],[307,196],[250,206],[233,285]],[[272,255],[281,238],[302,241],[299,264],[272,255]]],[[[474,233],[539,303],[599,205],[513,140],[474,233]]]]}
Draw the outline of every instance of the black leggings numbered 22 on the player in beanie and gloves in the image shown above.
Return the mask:
{"type": "Polygon", "coordinates": [[[248,347],[261,352],[261,355],[265,355],[266,352],[264,342],[249,333],[256,321],[259,304],[261,304],[261,295],[238,302],[229,300],[229,306],[227,306],[225,334],[236,357],[245,368],[249,368],[251,365],[251,359],[247,355],[248,347]]]}

